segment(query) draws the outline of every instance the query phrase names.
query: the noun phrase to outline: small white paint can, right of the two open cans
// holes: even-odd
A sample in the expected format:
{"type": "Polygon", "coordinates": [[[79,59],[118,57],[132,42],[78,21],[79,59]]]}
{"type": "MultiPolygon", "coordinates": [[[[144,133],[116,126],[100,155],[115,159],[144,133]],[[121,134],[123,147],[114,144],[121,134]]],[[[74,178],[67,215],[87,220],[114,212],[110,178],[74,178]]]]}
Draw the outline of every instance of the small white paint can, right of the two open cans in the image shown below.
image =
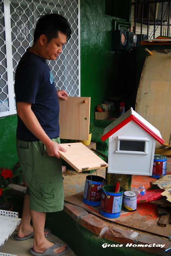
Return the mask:
{"type": "Polygon", "coordinates": [[[134,191],[125,191],[123,193],[123,210],[134,212],[137,209],[137,193],[134,191]]]}

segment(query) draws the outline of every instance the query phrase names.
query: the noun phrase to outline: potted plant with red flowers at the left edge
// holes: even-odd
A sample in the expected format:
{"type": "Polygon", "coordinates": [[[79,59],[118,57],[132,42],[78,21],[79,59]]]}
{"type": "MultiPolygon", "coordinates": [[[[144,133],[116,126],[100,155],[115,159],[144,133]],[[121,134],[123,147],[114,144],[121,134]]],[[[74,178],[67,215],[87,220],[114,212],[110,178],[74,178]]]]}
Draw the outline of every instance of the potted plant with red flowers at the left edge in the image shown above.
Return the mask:
{"type": "Polygon", "coordinates": [[[12,183],[12,178],[15,177],[13,171],[1,167],[0,168],[0,209],[2,210],[12,210],[13,204],[8,201],[8,191],[12,188],[9,184],[12,183]]]}

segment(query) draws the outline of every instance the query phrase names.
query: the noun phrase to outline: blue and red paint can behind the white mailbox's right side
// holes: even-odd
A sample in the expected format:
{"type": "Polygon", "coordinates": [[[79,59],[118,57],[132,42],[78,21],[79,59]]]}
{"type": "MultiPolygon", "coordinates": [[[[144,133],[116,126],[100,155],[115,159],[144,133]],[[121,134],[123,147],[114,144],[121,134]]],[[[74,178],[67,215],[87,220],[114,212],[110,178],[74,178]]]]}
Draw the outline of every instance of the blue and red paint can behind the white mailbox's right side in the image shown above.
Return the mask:
{"type": "Polygon", "coordinates": [[[154,155],[152,177],[158,178],[160,175],[166,175],[167,156],[154,155]]]}

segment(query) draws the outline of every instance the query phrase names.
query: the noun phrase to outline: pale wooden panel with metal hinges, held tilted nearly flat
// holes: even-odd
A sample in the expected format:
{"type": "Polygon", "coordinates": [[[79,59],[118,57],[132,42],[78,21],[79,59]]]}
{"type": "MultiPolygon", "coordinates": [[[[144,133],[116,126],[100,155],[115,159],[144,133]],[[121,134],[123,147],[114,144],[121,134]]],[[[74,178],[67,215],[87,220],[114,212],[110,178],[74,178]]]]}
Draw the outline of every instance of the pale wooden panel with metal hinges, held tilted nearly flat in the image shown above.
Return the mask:
{"type": "Polygon", "coordinates": [[[60,144],[67,152],[59,150],[59,155],[69,163],[77,172],[107,167],[108,164],[83,143],[60,144]]]}

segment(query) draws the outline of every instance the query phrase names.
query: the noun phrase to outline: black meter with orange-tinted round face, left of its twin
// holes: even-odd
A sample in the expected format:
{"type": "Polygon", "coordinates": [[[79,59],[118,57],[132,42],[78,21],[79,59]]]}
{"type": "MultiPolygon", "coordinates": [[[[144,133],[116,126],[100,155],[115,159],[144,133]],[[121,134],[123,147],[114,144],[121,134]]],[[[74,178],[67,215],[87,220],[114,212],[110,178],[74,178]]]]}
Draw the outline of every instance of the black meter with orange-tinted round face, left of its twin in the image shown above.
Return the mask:
{"type": "Polygon", "coordinates": [[[112,30],[112,51],[122,50],[126,46],[126,31],[112,30]]]}

